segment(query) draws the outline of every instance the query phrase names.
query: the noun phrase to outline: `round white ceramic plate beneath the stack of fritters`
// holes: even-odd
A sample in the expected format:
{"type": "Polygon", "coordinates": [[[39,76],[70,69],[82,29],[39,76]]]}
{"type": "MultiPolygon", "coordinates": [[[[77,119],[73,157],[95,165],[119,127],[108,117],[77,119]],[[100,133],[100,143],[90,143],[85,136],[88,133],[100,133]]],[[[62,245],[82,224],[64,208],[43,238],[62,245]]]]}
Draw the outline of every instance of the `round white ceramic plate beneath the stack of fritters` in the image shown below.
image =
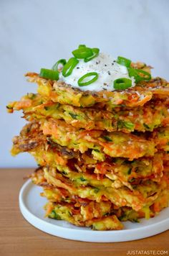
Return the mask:
{"type": "Polygon", "coordinates": [[[164,209],[155,218],[140,223],[124,222],[125,229],[115,231],[93,231],[85,227],[76,227],[66,221],[44,218],[43,206],[47,199],[39,195],[42,188],[27,180],[19,193],[19,206],[24,218],[34,227],[57,237],[84,242],[124,242],[150,237],[169,229],[169,208],[164,209]]]}

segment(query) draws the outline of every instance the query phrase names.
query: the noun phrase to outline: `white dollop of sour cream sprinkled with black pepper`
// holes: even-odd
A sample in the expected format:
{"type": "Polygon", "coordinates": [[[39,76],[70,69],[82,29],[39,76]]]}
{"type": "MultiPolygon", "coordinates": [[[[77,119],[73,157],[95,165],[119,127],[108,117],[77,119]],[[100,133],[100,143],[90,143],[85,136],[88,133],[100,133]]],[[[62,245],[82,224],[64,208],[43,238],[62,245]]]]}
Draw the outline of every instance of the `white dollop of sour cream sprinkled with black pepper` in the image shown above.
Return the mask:
{"type": "MultiPolygon", "coordinates": [[[[93,77],[86,78],[89,81],[93,77]]],[[[59,81],[71,85],[73,88],[79,88],[82,91],[114,91],[113,82],[117,78],[128,78],[132,81],[132,87],[135,86],[135,79],[128,75],[127,68],[124,65],[120,65],[116,62],[115,58],[110,55],[100,53],[97,58],[94,58],[87,63],[84,60],[79,60],[79,63],[72,71],[70,76],[60,76],[59,81]],[[90,83],[88,86],[79,86],[77,81],[79,78],[90,72],[97,72],[98,78],[94,83],[90,83]]]]}

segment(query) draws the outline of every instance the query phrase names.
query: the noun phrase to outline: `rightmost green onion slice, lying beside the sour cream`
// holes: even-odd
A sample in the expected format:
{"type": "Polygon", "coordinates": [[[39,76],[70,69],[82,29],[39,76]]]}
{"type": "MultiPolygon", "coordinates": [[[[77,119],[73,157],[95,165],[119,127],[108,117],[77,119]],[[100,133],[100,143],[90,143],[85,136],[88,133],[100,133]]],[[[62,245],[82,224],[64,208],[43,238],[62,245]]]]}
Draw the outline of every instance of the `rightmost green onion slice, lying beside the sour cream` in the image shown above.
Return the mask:
{"type": "Polygon", "coordinates": [[[135,83],[149,81],[151,79],[150,73],[142,69],[128,68],[128,74],[130,77],[133,76],[135,78],[135,83]]]}

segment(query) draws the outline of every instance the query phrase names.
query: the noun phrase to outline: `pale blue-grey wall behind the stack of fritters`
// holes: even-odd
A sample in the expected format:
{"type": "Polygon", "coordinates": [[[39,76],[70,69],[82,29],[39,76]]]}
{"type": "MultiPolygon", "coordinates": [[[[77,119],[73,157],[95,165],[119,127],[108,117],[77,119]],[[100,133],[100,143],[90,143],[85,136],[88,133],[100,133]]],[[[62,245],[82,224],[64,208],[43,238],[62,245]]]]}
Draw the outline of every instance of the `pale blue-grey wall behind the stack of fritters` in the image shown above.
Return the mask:
{"type": "Polygon", "coordinates": [[[34,92],[24,73],[51,68],[79,44],[100,47],[153,65],[169,80],[168,0],[0,0],[0,167],[36,166],[24,153],[11,157],[21,113],[6,114],[9,101],[34,92]]]}

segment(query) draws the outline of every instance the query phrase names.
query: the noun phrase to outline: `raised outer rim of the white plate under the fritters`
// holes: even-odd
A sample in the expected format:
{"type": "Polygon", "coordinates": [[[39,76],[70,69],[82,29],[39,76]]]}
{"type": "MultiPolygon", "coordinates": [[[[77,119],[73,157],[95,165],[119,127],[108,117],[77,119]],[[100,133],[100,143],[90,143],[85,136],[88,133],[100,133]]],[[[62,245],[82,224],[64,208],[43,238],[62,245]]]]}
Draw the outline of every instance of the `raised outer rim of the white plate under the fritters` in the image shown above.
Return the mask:
{"type": "Polygon", "coordinates": [[[19,191],[19,208],[24,219],[32,224],[37,229],[42,230],[48,234],[52,234],[56,237],[62,237],[64,239],[78,240],[82,242],[127,242],[137,239],[143,239],[146,237],[152,237],[155,234],[160,234],[169,229],[169,217],[163,219],[157,223],[150,224],[148,226],[139,227],[136,229],[122,229],[122,230],[85,230],[74,229],[72,227],[61,227],[57,224],[52,224],[45,219],[40,219],[38,216],[29,211],[26,203],[24,202],[24,196],[26,191],[30,191],[35,185],[32,180],[26,180],[21,186],[19,191]],[[153,230],[150,227],[153,226],[153,230]],[[137,237],[135,233],[137,232],[137,237]],[[95,236],[93,236],[95,234],[95,236]]]}

